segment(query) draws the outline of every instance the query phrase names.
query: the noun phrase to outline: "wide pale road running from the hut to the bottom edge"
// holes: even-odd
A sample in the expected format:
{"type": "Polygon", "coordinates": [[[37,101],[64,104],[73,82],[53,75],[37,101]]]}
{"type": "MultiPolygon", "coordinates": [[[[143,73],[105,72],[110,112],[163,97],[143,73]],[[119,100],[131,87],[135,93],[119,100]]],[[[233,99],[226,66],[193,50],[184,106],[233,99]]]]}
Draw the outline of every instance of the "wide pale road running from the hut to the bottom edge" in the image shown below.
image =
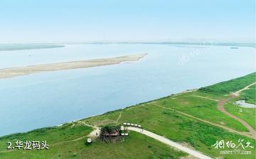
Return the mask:
{"type": "Polygon", "coordinates": [[[165,143],[168,146],[177,148],[178,150],[182,150],[183,152],[188,153],[189,155],[193,155],[196,158],[210,159],[209,156],[203,155],[203,153],[200,153],[196,150],[192,150],[191,148],[186,148],[186,147],[182,146],[181,144],[171,141],[168,138],[165,138],[164,136],[159,136],[156,133],[152,133],[152,132],[146,131],[146,130],[142,131],[142,128],[135,128],[135,127],[127,127],[127,129],[130,131],[136,131],[137,133],[142,133],[146,136],[154,138],[157,141],[160,141],[161,143],[165,143]]]}

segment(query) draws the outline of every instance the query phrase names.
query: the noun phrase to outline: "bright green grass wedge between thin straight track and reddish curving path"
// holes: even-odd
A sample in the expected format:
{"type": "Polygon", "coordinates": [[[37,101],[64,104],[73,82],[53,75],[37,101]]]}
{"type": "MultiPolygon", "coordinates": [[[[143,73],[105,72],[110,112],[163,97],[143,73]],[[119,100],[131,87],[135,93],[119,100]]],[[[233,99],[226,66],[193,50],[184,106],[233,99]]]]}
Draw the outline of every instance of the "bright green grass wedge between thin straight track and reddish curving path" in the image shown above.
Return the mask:
{"type": "Polygon", "coordinates": [[[216,109],[217,102],[202,97],[203,94],[201,94],[201,97],[198,97],[193,92],[190,92],[159,100],[156,104],[176,109],[216,124],[225,125],[238,131],[247,131],[238,121],[218,111],[216,109]]]}

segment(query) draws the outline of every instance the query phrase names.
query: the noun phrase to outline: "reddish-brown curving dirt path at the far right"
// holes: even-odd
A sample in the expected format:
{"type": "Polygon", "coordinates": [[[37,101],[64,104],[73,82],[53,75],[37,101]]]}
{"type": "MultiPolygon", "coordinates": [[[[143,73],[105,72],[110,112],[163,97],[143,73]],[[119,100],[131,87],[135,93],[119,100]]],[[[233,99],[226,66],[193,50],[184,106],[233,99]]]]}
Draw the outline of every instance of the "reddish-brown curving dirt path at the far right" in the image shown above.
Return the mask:
{"type": "Polygon", "coordinates": [[[237,92],[234,92],[233,94],[230,94],[230,97],[228,99],[221,99],[218,104],[217,104],[217,109],[221,112],[223,112],[223,114],[226,114],[227,116],[230,116],[231,118],[235,119],[236,121],[240,122],[240,124],[242,124],[243,126],[245,126],[245,128],[247,128],[247,130],[250,132],[250,135],[253,136],[253,138],[256,138],[256,131],[254,128],[252,128],[252,126],[250,126],[249,124],[247,124],[246,121],[238,118],[238,116],[235,116],[233,114],[230,114],[228,111],[225,110],[224,108],[224,104],[229,102],[231,99],[234,99],[236,97],[239,96],[240,92],[248,89],[249,87],[251,87],[253,84],[256,84],[255,83],[252,83],[250,85],[247,85],[245,88],[243,89],[240,89],[238,90],[237,92]]]}

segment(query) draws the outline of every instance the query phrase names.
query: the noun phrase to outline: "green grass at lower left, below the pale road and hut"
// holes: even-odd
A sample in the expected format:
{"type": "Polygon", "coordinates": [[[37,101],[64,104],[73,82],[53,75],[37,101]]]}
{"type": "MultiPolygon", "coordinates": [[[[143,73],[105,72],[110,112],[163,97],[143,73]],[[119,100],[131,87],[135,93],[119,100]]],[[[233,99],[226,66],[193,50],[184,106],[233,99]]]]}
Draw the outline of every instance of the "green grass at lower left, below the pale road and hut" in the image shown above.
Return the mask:
{"type": "Polygon", "coordinates": [[[0,153],[1,159],[45,159],[45,158],[181,158],[186,153],[178,152],[152,138],[131,132],[128,138],[116,143],[95,141],[91,146],[85,144],[85,139],[73,141],[86,136],[92,128],[80,124],[67,124],[55,128],[43,128],[37,131],[0,138],[0,150],[5,150],[8,141],[48,141],[49,150],[14,150],[0,153]],[[70,141],[70,142],[67,142],[70,141]],[[66,142],[66,143],[61,143],[66,142]],[[55,144],[60,143],[60,144],[55,144]],[[55,144],[55,145],[54,145],[55,144]]]}

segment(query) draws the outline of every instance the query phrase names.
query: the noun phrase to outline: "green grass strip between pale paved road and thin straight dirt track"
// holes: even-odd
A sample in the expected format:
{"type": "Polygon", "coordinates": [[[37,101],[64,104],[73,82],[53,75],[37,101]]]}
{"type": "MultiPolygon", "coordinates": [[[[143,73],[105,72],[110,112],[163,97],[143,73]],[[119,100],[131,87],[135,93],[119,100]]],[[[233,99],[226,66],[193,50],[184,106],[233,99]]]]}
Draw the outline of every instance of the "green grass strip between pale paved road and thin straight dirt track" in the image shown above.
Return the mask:
{"type": "MultiPolygon", "coordinates": [[[[97,116],[97,118],[85,119],[89,124],[114,124],[121,111],[97,116]]],[[[238,136],[221,128],[203,124],[194,119],[177,114],[175,111],[161,109],[152,104],[143,104],[122,111],[119,123],[131,122],[141,124],[146,130],[166,136],[179,143],[188,143],[196,150],[200,150],[213,157],[221,157],[220,150],[211,147],[217,140],[234,141],[238,143],[239,138],[244,138],[255,145],[250,138],[238,136]]],[[[252,152],[255,155],[255,150],[252,152]]],[[[225,158],[237,158],[236,155],[227,155],[225,158]]],[[[248,158],[254,158],[253,155],[248,158]]]]}

